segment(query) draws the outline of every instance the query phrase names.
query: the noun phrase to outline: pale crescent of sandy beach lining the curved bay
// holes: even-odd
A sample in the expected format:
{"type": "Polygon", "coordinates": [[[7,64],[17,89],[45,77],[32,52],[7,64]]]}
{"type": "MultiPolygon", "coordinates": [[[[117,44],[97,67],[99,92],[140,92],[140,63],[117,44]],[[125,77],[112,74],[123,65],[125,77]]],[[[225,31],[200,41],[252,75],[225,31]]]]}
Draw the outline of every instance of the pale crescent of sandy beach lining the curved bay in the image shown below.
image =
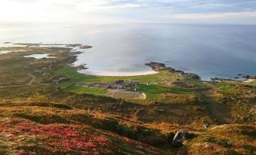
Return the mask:
{"type": "Polygon", "coordinates": [[[108,77],[129,77],[129,76],[138,76],[138,75],[147,75],[147,74],[157,74],[158,71],[134,71],[134,72],[115,72],[115,71],[89,71],[89,70],[80,70],[79,73],[82,74],[91,74],[95,76],[108,76],[108,77]]]}

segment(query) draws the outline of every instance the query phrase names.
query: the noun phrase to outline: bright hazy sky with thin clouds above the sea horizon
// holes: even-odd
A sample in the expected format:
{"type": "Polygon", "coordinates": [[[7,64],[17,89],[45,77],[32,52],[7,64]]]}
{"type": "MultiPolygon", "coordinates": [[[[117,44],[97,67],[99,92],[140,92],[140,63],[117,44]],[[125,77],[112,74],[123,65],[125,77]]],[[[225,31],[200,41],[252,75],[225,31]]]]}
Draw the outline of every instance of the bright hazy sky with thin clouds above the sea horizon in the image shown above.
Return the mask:
{"type": "Polygon", "coordinates": [[[0,0],[0,22],[256,24],[256,0],[0,0]]]}

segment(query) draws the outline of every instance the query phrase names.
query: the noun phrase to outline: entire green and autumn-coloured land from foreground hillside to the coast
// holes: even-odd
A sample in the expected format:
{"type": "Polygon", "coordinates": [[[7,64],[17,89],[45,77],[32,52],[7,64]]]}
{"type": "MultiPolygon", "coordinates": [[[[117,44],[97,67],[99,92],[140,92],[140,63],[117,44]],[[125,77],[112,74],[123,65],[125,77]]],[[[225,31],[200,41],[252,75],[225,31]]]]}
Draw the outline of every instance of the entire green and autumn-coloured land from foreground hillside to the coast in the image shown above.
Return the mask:
{"type": "Polygon", "coordinates": [[[19,45],[0,48],[12,51],[0,55],[0,154],[256,150],[255,81],[201,81],[161,63],[158,74],[97,77],[69,65],[73,47],[89,46],[19,45]],[[55,58],[24,57],[42,53],[55,58]]]}

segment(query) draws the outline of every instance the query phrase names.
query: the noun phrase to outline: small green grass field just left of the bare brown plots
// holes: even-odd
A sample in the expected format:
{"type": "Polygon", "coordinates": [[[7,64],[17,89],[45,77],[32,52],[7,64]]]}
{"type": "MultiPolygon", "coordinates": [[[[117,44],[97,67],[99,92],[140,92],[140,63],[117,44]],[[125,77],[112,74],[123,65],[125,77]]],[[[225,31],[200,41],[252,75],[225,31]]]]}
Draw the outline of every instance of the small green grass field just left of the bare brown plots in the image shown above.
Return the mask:
{"type": "Polygon", "coordinates": [[[65,90],[70,93],[78,93],[78,94],[86,93],[86,94],[93,94],[97,96],[103,96],[107,93],[107,90],[100,89],[100,88],[92,88],[92,87],[72,86],[72,87],[67,87],[65,90]]]}

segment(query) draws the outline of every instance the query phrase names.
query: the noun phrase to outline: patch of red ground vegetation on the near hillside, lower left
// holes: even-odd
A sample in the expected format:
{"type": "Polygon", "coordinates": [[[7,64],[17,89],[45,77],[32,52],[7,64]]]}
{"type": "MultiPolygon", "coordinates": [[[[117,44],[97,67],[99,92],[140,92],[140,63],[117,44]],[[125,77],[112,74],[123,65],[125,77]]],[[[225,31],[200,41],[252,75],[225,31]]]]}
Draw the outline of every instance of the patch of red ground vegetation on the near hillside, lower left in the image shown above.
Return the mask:
{"type": "Polygon", "coordinates": [[[106,150],[109,150],[107,149],[108,138],[78,125],[40,125],[29,120],[11,118],[8,121],[0,122],[0,126],[0,132],[8,132],[8,138],[13,141],[30,138],[30,142],[24,143],[23,141],[17,146],[20,154],[33,154],[35,147],[37,147],[36,150],[41,150],[41,154],[97,154],[106,153],[106,150]]]}

